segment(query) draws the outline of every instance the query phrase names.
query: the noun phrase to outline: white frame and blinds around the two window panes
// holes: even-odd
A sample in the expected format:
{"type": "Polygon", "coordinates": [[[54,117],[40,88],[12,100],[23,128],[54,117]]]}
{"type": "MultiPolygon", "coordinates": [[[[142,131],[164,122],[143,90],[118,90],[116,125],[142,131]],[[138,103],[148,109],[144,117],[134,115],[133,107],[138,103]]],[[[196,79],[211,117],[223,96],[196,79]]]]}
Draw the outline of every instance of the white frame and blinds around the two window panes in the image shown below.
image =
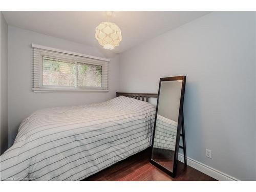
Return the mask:
{"type": "MultiPolygon", "coordinates": [[[[37,46],[37,45],[35,46],[34,44],[32,44],[32,47],[35,49],[35,48],[44,47],[44,46],[37,46]]],[[[105,58],[99,59],[100,57],[94,57],[94,56],[89,57],[88,55],[69,52],[69,51],[65,51],[65,50],[57,50],[54,48],[45,49],[45,48],[46,47],[44,47],[44,49],[39,48],[39,54],[37,55],[37,57],[39,57],[37,60],[38,74],[35,74],[35,71],[33,72],[34,78],[38,78],[38,85],[35,86],[35,84],[33,83],[32,91],[34,91],[34,92],[57,92],[57,91],[62,91],[62,92],[109,92],[109,89],[108,89],[108,81],[109,81],[108,65],[110,62],[109,59],[105,59],[105,58]],[[42,82],[43,82],[42,58],[43,57],[56,58],[56,59],[62,59],[62,60],[74,62],[74,65],[75,65],[74,86],[44,86],[42,84],[42,82]],[[101,63],[101,61],[102,61],[102,63],[101,63]],[[78,63],[84,63],[84,65],[88,64],[88,65],[94,65],[94,66],[102,66],[101,87],[78,86],[78,82],[77,82],[78,81],[78,63]]],[[[33,65],[35,65],[35,63],[33,63],[33,65]]]]}

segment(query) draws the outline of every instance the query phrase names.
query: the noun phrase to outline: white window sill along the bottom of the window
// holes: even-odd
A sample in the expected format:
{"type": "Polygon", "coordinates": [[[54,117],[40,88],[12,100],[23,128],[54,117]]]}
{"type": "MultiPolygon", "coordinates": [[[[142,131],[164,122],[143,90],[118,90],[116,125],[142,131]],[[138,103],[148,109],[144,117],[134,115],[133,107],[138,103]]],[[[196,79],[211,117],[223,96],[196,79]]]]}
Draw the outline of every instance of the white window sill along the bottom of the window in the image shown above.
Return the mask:
{"type": "Polygon", "coordinates": [[[46,89],[46,88],[32,88],[33,92],[109,92],[109,90],[94,90],[94,89],[46,89]]]}

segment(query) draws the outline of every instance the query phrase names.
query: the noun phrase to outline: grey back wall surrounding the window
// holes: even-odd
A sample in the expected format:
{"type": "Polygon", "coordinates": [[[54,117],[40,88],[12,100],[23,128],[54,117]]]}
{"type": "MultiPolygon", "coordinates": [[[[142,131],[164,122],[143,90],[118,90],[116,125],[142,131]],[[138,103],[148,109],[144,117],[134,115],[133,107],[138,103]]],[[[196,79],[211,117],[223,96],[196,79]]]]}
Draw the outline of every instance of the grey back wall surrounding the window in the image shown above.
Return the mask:
{"type": "Polygon", "coordinates": [[[12,145],[15,139],[19,123],[35,110],[53,106],[97,103],[115,97],[119,86],[118,55],[105,55],[100,52],[102,49],[11,26],[8,30],[9,145],[12,145]],[[99,57],[110,57],[109,92],[32,92],[32,43],[99,57]]]}

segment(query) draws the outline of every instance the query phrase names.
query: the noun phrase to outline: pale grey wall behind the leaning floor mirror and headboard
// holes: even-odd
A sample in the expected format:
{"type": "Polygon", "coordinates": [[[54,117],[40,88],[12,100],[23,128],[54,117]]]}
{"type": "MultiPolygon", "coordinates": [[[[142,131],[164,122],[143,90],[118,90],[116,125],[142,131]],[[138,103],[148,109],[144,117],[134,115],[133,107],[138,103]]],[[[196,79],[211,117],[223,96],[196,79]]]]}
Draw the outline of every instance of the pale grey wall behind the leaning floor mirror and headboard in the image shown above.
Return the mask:
{"type": "Polygon", "coordinates": [[[187,156],[256,180],[254,13],[213,12],[119,56],[120,91],[157,93],[176,75],[187,76],[187,156]]]}

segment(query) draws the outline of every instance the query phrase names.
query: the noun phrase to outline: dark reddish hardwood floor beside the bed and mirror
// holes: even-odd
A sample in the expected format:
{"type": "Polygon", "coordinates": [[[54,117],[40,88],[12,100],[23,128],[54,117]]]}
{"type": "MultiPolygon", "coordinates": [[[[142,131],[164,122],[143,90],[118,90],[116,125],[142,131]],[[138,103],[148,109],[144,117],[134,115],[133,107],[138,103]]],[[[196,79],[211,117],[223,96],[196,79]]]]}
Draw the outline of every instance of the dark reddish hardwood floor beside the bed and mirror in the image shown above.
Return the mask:
{"type": "Polygon", "coordinates": [[[216,181],[199,170],[178,162],[177,176],[172,178],[150,164],[150,150],[116,163],[83,181],[216,181]]]}

